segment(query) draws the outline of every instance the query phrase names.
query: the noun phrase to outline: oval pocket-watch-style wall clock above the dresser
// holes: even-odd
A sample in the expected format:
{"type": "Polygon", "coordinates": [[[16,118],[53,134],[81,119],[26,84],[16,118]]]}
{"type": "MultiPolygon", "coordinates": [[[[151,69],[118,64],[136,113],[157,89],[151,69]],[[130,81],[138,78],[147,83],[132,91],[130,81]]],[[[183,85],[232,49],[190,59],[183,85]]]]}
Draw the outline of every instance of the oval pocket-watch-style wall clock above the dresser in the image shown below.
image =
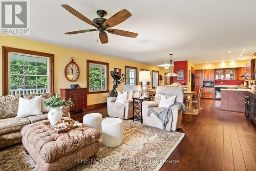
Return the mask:
{"type": "Polygon", "coordinates": [[[65,68],[65,76],[69,81],[76,81],[80,75],[79,67],[76,62],[74,62],[75,58],[71,58],[71,61],[65,68]]]}

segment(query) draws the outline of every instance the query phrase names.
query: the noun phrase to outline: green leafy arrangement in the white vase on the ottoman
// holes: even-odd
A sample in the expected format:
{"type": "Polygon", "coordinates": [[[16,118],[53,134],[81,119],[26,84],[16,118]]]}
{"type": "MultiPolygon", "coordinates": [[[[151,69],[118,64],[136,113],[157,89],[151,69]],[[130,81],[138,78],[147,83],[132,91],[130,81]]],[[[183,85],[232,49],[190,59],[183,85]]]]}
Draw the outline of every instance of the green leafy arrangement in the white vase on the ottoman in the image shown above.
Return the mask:
{"type": "Polygon", "coordinates": [[[71,101],[71,98],[68,100],[63,100],[60,95],[55,94],[53,97],[49,98],[47,101],[44,102],[46,106],[49,108],[58,108],[62,105],[71,105],[73,106],[73,102],[71,101]]]}

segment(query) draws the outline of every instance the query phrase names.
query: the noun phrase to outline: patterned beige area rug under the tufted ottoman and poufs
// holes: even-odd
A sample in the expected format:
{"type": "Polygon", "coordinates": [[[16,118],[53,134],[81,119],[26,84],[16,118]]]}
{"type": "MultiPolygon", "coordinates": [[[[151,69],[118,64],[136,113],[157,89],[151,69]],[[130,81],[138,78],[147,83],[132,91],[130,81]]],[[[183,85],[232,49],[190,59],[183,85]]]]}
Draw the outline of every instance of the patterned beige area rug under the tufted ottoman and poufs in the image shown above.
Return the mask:
{"type": "MultiPolygon", "coordinates": [[[[95,163],[82,161],[70,170],[159,170],[185,134],[167,132],[132,120],[123,121],[123,143],[102,145],[95,163]]],[[[39,170],[20,143],[0,151],[0,170],[39,170]]]]}

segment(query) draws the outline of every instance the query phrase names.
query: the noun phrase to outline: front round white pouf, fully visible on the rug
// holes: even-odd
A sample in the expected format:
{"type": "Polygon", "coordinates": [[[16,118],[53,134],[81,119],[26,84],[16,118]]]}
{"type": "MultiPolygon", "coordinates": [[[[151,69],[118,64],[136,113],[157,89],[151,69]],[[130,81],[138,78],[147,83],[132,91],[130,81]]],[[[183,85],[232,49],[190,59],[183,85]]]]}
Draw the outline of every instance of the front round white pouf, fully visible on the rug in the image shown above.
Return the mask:
{"type": "Polygon", "coordinates": [[[102,144],[117,147],[123,142],[123,121],[119,118],[106,118],[101,122],[102,144]]]}

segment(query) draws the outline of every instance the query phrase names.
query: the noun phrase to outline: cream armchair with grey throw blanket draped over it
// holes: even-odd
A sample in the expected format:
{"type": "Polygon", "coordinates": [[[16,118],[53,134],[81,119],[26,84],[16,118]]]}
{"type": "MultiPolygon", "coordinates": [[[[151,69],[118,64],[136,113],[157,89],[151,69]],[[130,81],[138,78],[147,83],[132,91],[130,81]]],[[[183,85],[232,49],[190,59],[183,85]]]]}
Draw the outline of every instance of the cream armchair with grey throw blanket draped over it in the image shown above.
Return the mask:
{"type": "MultiPolygon", "coordinates": [[[[155,101],[143,101],[142,102],[142,117],[143,123],[148,126],[157,127],[159,129],[164,129],[162,122],[156,117],[156,115],[151,114],[147,116],[147,111],[149,108],[158,107],[161,95],[166,97],[176,96],[175,102],[183,103],[183,88],[182,87],[157,87],[155,101]]],[[[173,112],[173,117],[169,119],[166,123],[166,131],[175,131],[181,124],[182,119],[182,108],[179,105],[174,105],[171,107],[173,112]]]]}

